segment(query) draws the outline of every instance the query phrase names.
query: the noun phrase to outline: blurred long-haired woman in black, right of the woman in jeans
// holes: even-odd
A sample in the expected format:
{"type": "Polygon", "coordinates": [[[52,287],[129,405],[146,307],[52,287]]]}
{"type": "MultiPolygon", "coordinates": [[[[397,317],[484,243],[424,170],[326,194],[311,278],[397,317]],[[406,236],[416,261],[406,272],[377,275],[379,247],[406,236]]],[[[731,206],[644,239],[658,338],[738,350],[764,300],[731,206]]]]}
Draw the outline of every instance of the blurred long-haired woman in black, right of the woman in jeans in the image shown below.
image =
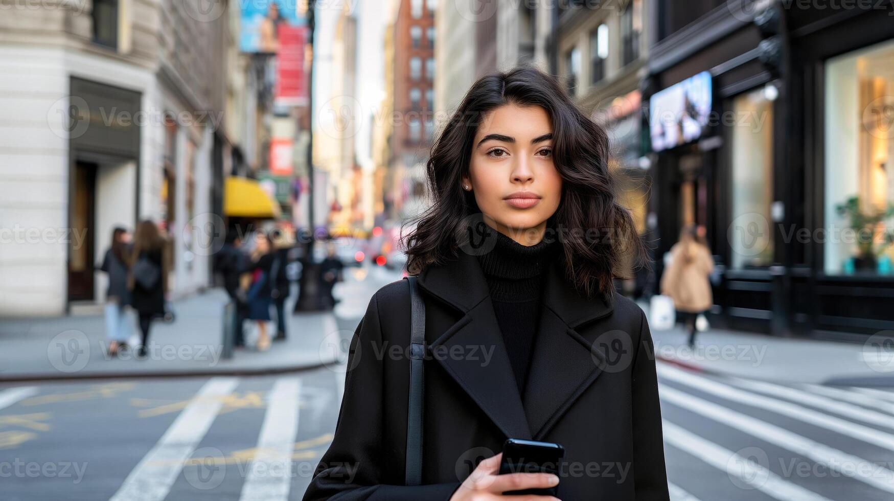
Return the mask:
{"type": "Polygon", "coordinates": [[[140,221],[133,238],[131,269],[128,288],[131,306],[139,316],[139,358],[146,357],[149,327],[155,318],[164,317],[164,294],[167,293],[167,245],[158,226],[152,221],[140,221]]]}

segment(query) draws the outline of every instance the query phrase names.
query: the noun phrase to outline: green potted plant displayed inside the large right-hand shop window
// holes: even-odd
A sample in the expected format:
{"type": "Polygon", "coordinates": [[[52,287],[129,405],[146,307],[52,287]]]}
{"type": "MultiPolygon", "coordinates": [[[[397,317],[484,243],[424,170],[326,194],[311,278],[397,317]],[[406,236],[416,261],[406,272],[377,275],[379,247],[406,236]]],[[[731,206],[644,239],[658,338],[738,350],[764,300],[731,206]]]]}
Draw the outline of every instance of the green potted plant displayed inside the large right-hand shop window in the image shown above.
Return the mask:
{"type": "Polygon", "coordinates": [[[857,255],[854,257],[856,270],[875,270],[876,258],[894,243],[894,228],[878,228],[889,217],[894,217],[894,204],[874,213],[864,212],[860,197],[852,196],[835,206],[839,217],[848,217],[848,225],[857,235],[857,255]],[[881,232],[881,242],[876,243],[875,235],[881,232]]]}

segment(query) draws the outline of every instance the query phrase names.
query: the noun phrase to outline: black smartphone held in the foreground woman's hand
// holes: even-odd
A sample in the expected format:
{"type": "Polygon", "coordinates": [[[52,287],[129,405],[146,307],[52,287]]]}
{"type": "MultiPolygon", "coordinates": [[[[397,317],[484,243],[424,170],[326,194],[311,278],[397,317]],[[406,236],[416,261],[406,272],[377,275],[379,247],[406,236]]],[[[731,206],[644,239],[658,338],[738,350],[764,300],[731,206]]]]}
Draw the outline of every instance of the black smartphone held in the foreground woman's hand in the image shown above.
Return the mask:
{"type": "MultiPolygon", "coordinates": [[[[565,447],[559,444],[510,438],[503,444],[500,474],[544,472],[558,475],[561,470],[561,459],[564,456],[565,447]]],[[[559,486],[556,485],[551,488],[509,490],[503,492],[503,495],[536,494],[540,496],[556,496],[558,491],[559,486]]]]}

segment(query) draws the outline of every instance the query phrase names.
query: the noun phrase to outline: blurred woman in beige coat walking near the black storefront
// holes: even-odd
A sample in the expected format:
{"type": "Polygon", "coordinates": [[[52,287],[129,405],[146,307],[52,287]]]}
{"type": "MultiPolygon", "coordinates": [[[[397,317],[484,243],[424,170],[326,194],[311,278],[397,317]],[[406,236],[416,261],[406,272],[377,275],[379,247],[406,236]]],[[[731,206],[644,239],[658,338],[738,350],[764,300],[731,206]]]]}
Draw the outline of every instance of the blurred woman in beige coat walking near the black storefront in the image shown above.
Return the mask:
{"type": "Polygon", "coordinates": [[[671,247],[671,262],[662,275],[662,294],[673,300],[677,316],[689,331],[687,344],[696,345],[696,318],[711,308],[710,276],[714,269],[711,250],[696,225],[687,225],[679,242],[671,247]]]}

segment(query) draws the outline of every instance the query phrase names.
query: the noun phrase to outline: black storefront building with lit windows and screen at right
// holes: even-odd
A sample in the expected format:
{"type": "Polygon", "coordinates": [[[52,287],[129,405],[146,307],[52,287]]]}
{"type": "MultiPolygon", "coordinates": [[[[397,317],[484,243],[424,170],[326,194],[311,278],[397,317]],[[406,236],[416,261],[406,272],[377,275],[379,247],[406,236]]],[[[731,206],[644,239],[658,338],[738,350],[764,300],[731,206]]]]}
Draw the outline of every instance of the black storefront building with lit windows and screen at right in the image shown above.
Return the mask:
{"type": "Polygon", "coordinates": [[[650,8],[650,210],[660,252],[704,225],[716,324],[856,339],[894,326],[889,11],[650,8]]]}

